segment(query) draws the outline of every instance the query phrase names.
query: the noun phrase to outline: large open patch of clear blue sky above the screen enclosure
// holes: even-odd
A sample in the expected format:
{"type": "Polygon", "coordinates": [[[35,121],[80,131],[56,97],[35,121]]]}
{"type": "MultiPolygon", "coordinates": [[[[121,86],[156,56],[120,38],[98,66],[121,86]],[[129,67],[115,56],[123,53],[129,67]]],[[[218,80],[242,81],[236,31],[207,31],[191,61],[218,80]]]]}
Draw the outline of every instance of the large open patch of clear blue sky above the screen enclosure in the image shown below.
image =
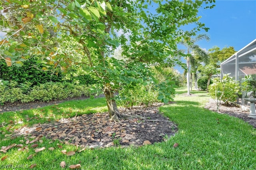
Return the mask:
{"type": "Polygon", "coordinates": [[[210,28],[210,41],[198,42],[200,47],[232,46],[238,51],[256,39],[256,0],[216,0],[215,5],[199,10],[200,21],[210,28]]]}

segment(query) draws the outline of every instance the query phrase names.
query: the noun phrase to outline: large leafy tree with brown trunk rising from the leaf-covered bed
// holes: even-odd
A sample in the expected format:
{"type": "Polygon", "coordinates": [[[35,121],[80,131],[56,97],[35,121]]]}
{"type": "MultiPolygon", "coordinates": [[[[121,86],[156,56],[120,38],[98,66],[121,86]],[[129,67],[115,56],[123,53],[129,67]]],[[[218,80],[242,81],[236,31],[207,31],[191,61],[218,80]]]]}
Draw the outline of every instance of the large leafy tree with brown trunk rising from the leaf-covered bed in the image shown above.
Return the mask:
{"type": "MultiPolygon", "coordinates": [[[[5,17],[0,24],[11,24],[0,43],[1,57],[9,66],[22,66],[22,61],[38,57],[45,63],[42,70],[60,67],[62,72],[74,64],[82,65],[98,78],[100,85],[95,90],[103,89],[110,117],[118,121],[124,116],[117,109],[114,93],[132,82],[157,84],[149,65],[172,63],[170,56],[180,40],[195,36],[200,29],[208,30],[197,13],[198,8],[212,2],[2,1],[5,17]],[[189,23],[196,24],[195,28],[180,29],[189,23]],[[120,30],[121,36],[117,35],[120,30]],[[119,45],[126,61],[111,57],[119,45]]],[[[163,102],[172,99],[168,93],[173,91],[172,85],[172,81],[156,85],[163,102]]]]}

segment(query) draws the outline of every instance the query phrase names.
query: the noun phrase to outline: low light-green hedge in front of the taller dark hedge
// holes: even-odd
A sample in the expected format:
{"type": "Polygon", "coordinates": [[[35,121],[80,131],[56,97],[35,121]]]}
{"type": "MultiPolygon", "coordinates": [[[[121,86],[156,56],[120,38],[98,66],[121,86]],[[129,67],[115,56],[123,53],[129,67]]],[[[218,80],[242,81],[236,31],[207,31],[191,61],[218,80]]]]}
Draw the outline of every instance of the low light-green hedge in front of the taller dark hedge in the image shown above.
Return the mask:
{"type": "Polygon", "coordinates": [[[16,81],[0,80],[0,104],[32,101],[52,101],[68,97],[89,96],[90,87],[72,83],[44,83],[31,86],[30,82],[18,84],[16,81]]]}

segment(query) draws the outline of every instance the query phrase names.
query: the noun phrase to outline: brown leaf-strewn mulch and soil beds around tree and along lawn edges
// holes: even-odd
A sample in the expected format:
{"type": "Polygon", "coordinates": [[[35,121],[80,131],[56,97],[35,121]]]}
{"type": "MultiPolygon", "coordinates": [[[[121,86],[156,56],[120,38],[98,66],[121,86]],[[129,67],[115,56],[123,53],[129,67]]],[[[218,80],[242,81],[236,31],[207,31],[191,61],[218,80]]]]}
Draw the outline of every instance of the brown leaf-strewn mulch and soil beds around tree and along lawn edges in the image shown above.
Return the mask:
{"type": "MultiPolygon", "coordinates": [[[[75,99],[86,98],[87,97],[80,97],[75,99]]],[[[68,100],[70,99],[51,101],[48,103],[8,104],[1,107],[0,112],[44,107],[68,100]]],[[[86,148],[108,147],[113,145],[141,146],[154,142],[162,142],[170,136],[173,136],[178,131],[178,128],[172,121],[159,113],[158,107],[160,107],[160,105],[162,104],[158,103],[147,109],[134,107],[126,111],[120,110],[121,113],[143,116],[147,118],[146,120],[130,119],[115,123],[108,121],[110,119],[108,113],[84,114],[69,119],[61,119],[54,123],[23,127],[15,130],[12,136],[24,135],[27,139],[38,137],[38,140],[40,137],[45,136],[53,140],[59,139],[66,144],[84,146],[86,148]]],[[[210,99],[205,108],[215,111],[216,105],[214,101],[210,99]]],[[[247,117],[249,111],[244,111],[238,107],[221,106],[219,113],[243,119],[256,128],[256,119],[247,117]]]]}

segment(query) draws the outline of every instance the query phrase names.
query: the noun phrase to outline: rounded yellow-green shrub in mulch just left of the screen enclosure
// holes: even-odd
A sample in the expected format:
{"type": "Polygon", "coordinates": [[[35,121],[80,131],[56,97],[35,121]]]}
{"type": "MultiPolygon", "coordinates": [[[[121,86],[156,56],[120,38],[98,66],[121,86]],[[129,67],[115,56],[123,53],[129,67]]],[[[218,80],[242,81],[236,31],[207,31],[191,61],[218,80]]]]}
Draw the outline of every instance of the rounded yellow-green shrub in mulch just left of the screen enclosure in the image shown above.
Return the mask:
{"type": "Polygon", "coordinates": [[[217,111],[223,103],[234,103],[238,97],[240,86],[236,81],[229,77],[228,74],[224,75],[222,79],[219,77],[213,79],[213,83],[209,86],[209,94],[216,102],[217,111]]]}

